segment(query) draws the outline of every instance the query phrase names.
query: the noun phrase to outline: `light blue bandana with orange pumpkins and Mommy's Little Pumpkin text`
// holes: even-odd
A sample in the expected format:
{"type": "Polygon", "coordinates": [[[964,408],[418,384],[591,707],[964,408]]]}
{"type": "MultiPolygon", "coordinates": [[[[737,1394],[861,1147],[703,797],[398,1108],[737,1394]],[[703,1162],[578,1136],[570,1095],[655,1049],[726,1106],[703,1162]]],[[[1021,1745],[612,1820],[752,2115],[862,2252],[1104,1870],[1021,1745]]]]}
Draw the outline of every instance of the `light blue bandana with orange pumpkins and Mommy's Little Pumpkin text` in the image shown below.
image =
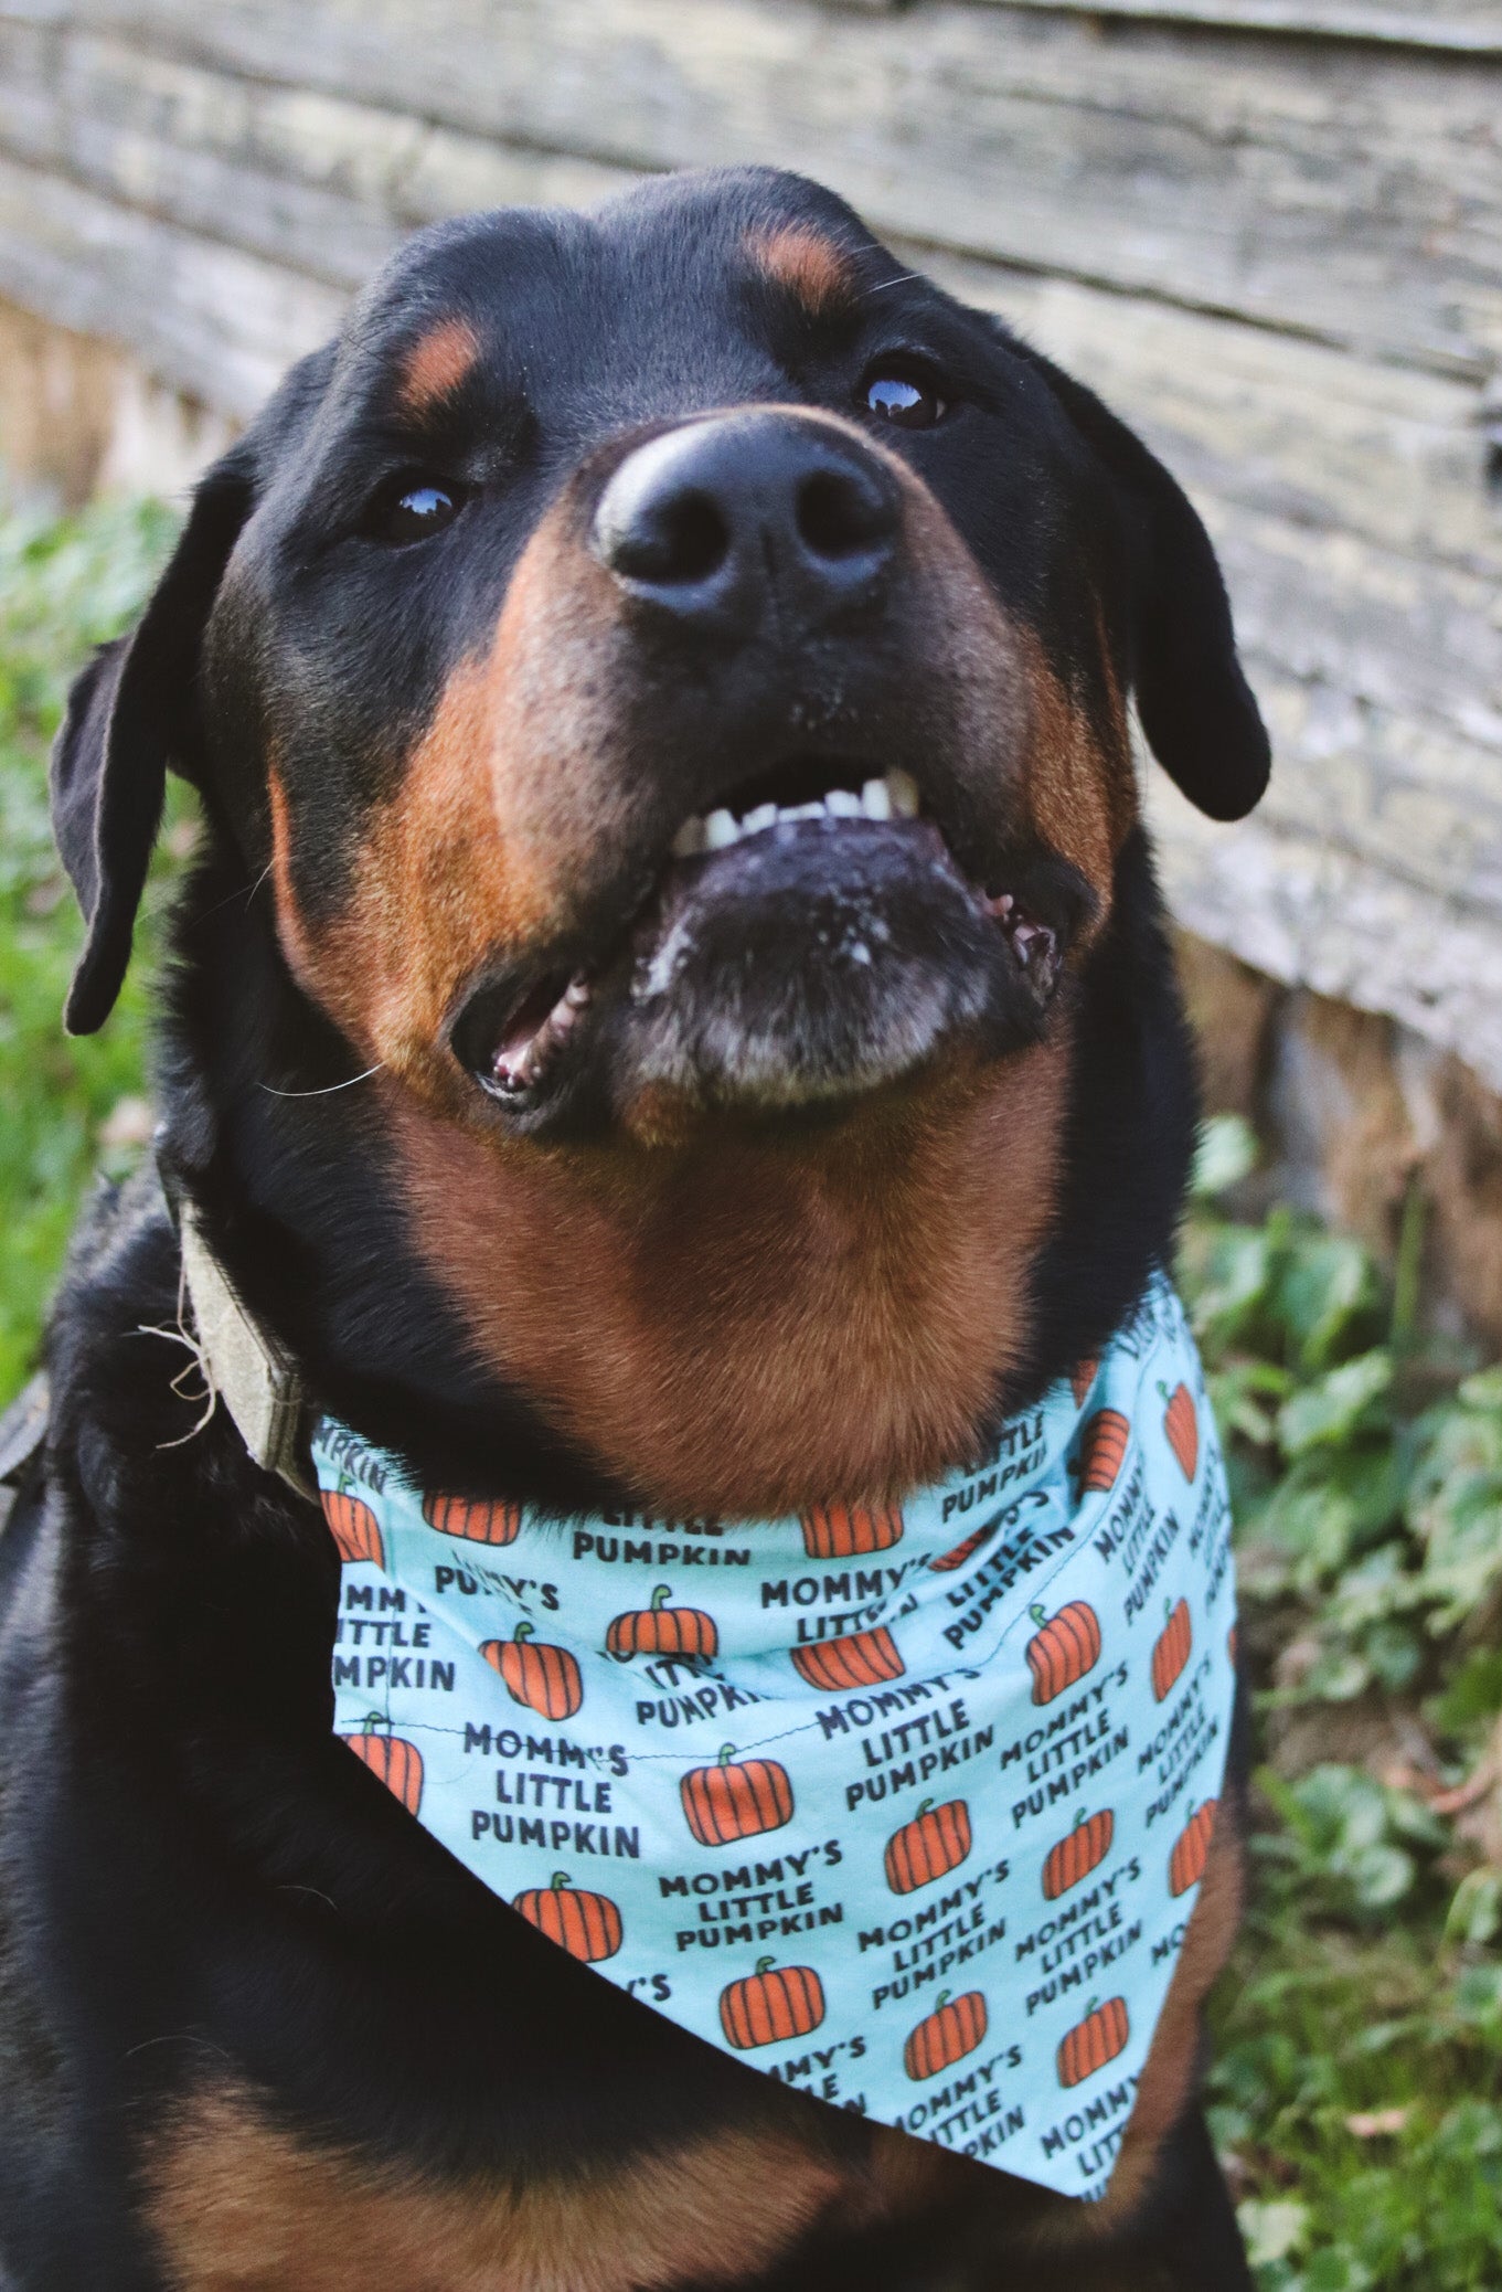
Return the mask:
{"type": "Polygon", "coordinates": [[[543,1934],[833,2106],[1097,2198],[1204,1873],[1230,1506],[1179,1300],[900,1506],[566,1520],[323,1419],[334,1726],[543,1934]]]}

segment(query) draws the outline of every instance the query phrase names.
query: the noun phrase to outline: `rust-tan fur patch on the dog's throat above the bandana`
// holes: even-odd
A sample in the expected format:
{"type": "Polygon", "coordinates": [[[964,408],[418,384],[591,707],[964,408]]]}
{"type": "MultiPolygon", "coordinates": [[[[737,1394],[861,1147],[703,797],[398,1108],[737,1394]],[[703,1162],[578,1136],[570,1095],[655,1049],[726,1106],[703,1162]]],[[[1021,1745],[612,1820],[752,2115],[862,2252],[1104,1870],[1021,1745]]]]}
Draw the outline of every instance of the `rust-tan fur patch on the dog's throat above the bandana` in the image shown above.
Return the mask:
{"type": "Polygon", "coordinates": [[[776,1517],[962,1460],[1028,1336],[1062,1098],[1056,1043],[822,1144],[540,1153],[389,1116],[481,1357],[655,1506],[776,1517]]]}

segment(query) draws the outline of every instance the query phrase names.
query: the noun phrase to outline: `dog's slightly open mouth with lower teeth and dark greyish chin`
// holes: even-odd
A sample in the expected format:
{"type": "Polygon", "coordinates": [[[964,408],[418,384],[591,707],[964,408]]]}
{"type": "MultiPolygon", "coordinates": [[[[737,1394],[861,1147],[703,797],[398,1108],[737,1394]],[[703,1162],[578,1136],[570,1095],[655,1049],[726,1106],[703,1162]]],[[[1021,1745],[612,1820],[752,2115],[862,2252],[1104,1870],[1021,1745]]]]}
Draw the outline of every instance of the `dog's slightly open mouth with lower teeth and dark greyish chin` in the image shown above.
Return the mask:
{"type": "Polygon", "coordinates": [[[849,1096],[987,1015],[1012,1038],[996,1047],[1037,1038],[1078,924],[1072,876],[1019,853],[975,878],[909,770],[795,756],[685,818],[598,949],[474,990],[451,1047],[522,1116],[602,1038],[637,1082],[774,1107],[849,1096]]]}

